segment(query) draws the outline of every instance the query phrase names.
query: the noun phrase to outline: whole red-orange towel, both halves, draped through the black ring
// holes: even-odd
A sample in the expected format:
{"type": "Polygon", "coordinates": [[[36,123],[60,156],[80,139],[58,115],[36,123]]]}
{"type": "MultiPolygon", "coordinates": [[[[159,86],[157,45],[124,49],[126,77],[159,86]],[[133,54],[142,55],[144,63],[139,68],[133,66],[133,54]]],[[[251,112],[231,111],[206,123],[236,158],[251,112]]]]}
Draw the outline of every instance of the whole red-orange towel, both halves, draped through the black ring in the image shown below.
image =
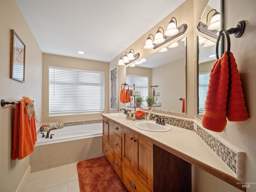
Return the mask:
{"type": "Polygon", "coordinates": [[[228,54],[224,52],[210,72],[202,126],[208,130],[222,132],[226,127],[226,117],[230,121],[248,118],[240,76],[231,52],[230,67],[228,54]]]}

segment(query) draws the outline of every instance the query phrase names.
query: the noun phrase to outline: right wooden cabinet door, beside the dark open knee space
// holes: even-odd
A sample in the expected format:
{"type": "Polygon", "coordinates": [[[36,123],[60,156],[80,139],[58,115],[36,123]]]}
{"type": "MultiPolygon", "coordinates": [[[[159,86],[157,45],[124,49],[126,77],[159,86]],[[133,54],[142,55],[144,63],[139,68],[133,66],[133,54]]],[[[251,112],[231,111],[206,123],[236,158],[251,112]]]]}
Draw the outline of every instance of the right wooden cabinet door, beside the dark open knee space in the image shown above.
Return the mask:
{"type": "Polygon", "coordinates": [[[153,191],[153,144],[145,136],[134,137],[134,173],[153,191]]]}

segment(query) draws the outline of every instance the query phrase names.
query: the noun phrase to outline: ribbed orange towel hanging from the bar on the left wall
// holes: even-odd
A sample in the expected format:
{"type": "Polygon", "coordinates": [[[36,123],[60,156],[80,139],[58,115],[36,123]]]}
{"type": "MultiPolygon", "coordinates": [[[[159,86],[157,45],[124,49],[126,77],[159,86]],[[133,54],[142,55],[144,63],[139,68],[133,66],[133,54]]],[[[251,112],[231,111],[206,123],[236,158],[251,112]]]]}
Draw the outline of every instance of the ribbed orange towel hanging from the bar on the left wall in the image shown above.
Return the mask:
{"type": "MultiPolygon", "coordinates": [[[[20,104],[15,106],[14,114],[14,134],[13,134],[13,149],[12,149],[12,160],[23,159],[34,151],[35,137],[35,123],[33,127],[29,126],[28,116],[26,113],[26,103],[19,101],[20,104]],[[33,136],[32,136],[33,135],[33,136]]],[[[34,121],[34,118],[31,118],[34,121]]]]}

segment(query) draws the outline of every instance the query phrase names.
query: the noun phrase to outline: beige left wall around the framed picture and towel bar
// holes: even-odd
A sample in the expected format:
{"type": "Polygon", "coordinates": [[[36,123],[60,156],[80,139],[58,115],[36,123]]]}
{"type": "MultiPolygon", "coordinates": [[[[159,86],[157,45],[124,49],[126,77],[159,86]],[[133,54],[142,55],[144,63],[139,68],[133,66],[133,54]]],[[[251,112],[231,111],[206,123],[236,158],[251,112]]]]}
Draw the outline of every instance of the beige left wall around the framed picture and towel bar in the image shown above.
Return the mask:
{"type": "MultiPolygon", "coordinates": [[[[34,100],[37,127],[42,123],[42,52],[15,0],[0,1],[0,99],[17,101],[22,96],[34,100]],[[9,78],[10,29],[26,45],[25,82],[9,78]]],[[[11,160],[13,105],[0,107],[0,192],[14,192],[29,168],[29,156],[11,160]]]]}

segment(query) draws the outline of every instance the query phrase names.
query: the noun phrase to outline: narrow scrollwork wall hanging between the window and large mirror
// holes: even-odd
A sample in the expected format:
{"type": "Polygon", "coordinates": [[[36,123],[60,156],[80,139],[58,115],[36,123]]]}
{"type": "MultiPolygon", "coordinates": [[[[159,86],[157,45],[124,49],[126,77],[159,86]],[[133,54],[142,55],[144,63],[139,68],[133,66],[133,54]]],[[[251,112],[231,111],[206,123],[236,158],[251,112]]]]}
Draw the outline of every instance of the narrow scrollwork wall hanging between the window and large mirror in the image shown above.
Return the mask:
{"type": "Polygon", "coordinates": [[[116,67],[111,70],[111,98],[110,98],[110,108],[117,110],[117,69],[116,67]]]}

